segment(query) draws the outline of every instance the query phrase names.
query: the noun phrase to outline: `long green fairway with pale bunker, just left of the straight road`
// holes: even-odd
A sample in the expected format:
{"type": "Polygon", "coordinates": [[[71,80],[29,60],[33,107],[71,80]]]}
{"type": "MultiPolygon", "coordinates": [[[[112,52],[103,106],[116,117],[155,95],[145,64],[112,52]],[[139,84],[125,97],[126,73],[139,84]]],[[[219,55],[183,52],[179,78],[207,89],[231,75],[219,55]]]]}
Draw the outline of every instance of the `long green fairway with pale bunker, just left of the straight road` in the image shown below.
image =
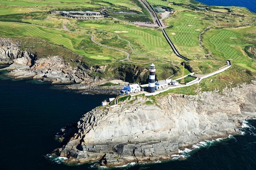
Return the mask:
{"type": "Polygon", "coordinates": [[[172,48],[166,42],[163,37],[163,33],[160,30],[156,30],[154,28],[142,28],[131,24],[113,23],[113,20],[111,19],[100,21],[79,20],[78,26],[85,29],[95,27],[97,30],[109,31],[113,34],[118,34],[122,39],[130,41],[131,46],[137,53],[159,59],[174,59],[174,57],[172,57],[172,48]],[[115,33],[115,31],[128,31],[128,33],[115,33]]]}

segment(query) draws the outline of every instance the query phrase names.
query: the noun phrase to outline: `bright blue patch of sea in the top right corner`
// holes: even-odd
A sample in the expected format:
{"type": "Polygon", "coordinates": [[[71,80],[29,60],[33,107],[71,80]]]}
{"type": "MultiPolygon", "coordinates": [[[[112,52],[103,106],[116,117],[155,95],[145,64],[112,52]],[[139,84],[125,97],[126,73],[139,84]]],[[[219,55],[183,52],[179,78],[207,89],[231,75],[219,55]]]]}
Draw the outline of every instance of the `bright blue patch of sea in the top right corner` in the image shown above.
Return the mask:
{"type": "Polygon", "coordinates": [[[243,6],[256,13],[256,0],[197,0],[209,6],[243,6]]]}

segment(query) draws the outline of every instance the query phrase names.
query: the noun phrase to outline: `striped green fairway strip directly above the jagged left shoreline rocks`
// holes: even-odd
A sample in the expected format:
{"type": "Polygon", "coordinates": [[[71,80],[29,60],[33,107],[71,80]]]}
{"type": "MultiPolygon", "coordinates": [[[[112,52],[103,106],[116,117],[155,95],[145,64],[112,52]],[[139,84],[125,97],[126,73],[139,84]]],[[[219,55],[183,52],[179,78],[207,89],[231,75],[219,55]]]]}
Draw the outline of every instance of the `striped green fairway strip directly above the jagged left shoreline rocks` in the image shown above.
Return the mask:
{"type": "Polygon", "coordinates": [[[113,57],[116,59],[123,59],[125,57],[125,54],[120,51],[96,45],[90,40],[90,36],[67,33],[65,31],[28,24],[0,22],[0,35],[8,37],[24,36],[41,38],[56,45],[62,45],[76,54],[87,56],[94,59],[94,61],[97,59],[107,59],[108,62],[111,62],[113,57]],[[104,56],[105,58],[99,56],[104,56]]]}

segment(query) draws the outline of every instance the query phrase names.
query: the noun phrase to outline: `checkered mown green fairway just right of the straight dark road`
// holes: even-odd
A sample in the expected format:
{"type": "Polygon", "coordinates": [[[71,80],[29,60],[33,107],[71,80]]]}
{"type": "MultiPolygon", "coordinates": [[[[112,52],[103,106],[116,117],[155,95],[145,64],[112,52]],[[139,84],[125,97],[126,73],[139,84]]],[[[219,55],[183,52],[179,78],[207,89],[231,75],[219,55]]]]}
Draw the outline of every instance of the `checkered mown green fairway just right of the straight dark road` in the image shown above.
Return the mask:
{"type": "Polygon", "coordinates": [[[189,58],[201,58],[205,53],[199,47],[198,37],[204,28],[213,22],[200,20],[200,17],[203,16],[203,14],[184,11],[164,20],[167,26],[173,26],[166,29],[170,39],[177,46],[177,49],[181,51],[180,53],[189,58]]]}

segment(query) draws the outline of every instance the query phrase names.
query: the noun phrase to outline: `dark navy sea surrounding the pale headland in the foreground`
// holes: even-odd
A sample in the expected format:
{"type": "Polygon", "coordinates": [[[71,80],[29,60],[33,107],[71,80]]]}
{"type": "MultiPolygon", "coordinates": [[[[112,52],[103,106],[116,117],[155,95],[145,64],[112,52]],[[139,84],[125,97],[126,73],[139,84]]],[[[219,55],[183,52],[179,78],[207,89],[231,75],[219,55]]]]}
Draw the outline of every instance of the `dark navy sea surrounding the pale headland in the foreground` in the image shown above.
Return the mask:
{"type": "MultiPolygon", "coordinates": [[[[3,74],[3,71],[0,71],[3,74]]],[[[0,75],[0,170],[88,170],[92,164],[67,166],[46,155],[61,143],[55,134],[109,96],[82,95],[49,83],[11,80],[0,75]]],[[[256,170],[256,120],[244,135],[204,142],[186,160],[137,164],[128,170],[256,170]]]]}

